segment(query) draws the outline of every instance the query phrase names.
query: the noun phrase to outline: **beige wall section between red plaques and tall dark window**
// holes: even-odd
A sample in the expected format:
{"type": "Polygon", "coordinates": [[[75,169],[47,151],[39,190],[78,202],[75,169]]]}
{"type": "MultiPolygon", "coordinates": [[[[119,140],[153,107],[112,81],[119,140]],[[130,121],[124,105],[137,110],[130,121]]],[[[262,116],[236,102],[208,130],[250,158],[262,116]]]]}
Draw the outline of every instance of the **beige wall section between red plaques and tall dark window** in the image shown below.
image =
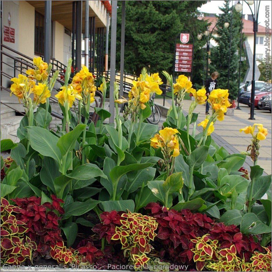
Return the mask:
{"type": "Polygon", "coordinates": [[[35,8],[26,1],[19,1],[19,49],[30,58],[34,57],[35,8]]]}

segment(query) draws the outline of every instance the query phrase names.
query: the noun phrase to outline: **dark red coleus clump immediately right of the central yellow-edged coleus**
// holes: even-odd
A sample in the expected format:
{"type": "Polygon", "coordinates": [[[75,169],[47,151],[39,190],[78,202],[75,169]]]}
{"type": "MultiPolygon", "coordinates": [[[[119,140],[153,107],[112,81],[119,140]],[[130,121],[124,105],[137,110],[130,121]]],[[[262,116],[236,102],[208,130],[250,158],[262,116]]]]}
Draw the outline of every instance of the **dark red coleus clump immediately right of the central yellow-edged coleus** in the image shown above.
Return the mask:
{"type": "Polygon", "coordinates": [[[207,234],[214,225],[214,220],[205,214],[192,213],[189,209],[177,212],[174,209],[167,210],[158,203],[149,203],[145,209],[150,209],[153,217],[158,223],[158,234],[156,240],[164,245],[161,258],[166,257],[168,252],[172,262],[183,262],[192,264],[194,244],[190,241],[196,237],[207,234]]]}

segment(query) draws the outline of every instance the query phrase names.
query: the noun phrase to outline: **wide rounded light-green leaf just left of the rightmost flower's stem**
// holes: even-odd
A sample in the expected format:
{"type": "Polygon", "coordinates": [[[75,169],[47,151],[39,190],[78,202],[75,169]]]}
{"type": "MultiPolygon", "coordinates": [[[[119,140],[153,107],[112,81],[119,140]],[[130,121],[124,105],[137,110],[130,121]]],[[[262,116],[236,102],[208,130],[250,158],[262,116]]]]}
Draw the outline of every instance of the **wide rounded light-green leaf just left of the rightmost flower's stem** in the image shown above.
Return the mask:
{"type": "Polygon", "coordinates": [[[236,192],[238,194],[246,192],[247,191],[247,186],[249,184],[249,180],[245,179],[244,177],[238,176],[238,175],[230,175],[230,176],[225,176],[221,179],[221,185],[223,184],[229,184],[229,187],[225,187],[223,192],[230,192],[235,188],[236,192]]]}

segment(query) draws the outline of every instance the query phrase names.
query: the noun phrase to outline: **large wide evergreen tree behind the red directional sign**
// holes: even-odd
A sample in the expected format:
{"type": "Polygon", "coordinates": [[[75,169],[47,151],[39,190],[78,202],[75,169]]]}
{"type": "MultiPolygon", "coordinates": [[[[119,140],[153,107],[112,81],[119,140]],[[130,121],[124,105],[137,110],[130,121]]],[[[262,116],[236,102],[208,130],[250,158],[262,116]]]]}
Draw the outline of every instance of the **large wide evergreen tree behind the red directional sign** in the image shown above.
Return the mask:
{"type": "MultiPolygon", "coordinates": [[[[163,70],[173,73],[175,39],[181,32],[194,36],[193,82],[201,83],[205,41],[198,41],[199,31],[204,31],[206,22],[198,20],[197,10],[207,1],[126,1],[125,60],[127,73],[140,74],[143,67],[148,72],[163,70]]],[[[120,67],[120,41],[122,3],[118,1],[116,67],[120,67]]],[[[191,40],[190,40],[191,42],[191,40]]],[[[177,38],[177,43],[180,43],[177,38]]],[[[187,73],[187,76],[190,74],[187,73]]]]}

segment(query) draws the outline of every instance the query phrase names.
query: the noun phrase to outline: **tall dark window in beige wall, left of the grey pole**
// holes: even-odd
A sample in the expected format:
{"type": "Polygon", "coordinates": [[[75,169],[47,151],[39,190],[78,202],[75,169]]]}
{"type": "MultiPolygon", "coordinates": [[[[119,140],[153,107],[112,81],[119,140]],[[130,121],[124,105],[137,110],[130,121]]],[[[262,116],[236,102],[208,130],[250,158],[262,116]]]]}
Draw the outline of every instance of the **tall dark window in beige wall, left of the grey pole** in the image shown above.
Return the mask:
{"type": "Polygon", "coordinates": [[[44,54],[44,16],[35,11],[35,55],[44,54]]]}

